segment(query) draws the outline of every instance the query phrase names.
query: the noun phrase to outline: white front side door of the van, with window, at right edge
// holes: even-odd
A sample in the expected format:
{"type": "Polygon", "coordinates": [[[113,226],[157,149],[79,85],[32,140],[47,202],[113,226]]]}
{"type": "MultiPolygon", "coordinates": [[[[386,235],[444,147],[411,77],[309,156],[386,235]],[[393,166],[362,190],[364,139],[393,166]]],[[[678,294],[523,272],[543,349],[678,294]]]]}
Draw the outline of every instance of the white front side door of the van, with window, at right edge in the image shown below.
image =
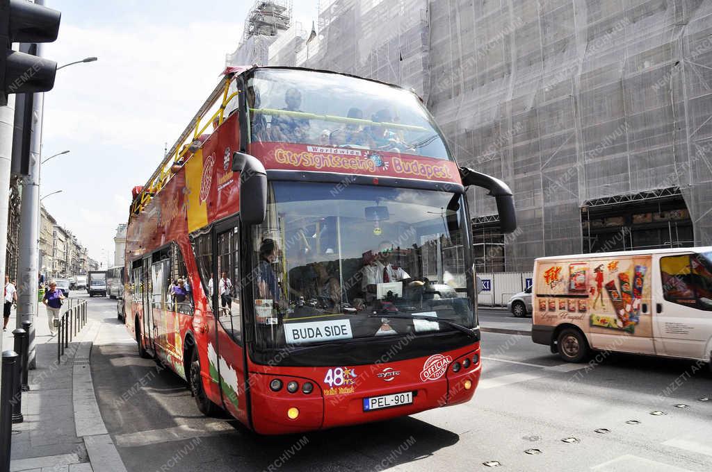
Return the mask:
{"type": "Polygon", "coordinates": [[[658,354],[709,360],[712,253],[656,254],[654,337],[658,354]]]}

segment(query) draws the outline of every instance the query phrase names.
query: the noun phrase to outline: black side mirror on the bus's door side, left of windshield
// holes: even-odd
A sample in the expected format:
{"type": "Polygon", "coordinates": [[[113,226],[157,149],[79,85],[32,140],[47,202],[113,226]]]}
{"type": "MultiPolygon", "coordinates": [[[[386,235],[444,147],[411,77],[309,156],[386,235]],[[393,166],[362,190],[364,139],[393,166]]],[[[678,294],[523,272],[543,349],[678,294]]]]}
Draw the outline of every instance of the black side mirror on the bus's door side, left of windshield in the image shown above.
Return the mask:
{"type": "Polygon", "coordinates": [[[240,173],[240,221],[260,225],[267,214],[267,172],[255,156],[235,152],[232,170],[240,173]]]}

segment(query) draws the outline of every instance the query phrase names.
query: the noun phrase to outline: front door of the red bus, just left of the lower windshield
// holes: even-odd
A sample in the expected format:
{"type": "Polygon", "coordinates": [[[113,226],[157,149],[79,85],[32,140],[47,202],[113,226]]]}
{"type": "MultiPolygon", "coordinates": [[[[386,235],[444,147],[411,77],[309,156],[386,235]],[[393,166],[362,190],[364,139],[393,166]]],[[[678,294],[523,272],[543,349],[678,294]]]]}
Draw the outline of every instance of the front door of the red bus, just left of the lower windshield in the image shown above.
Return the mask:
{"type": "Polygon", "coordinates": [[[242,329],[239,222],[216,226],[213,313],[216,316],[218,375],[224,407],[247,421],[244,333],[242,329]]]}

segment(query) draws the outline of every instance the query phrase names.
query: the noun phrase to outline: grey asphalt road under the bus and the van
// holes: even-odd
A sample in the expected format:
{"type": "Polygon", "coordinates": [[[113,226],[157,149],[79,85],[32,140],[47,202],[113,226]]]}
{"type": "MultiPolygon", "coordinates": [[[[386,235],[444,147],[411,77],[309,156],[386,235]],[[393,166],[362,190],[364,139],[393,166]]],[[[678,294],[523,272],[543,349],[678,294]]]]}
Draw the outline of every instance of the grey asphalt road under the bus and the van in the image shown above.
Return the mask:
{"type": "Polygon", "coordinates": [[[483,380],[467,404],[257,436],[201,416],[179,377],[138,357],[115,301],[89,303],[104,321],[91,358],[95,392],[129,471],[486,471],[487,461],[508,471],[712,470],[712,401],[699,400],[712,397],[706,366],[617,354],[572,365],[526,336],[483,333],[483,380]]]}

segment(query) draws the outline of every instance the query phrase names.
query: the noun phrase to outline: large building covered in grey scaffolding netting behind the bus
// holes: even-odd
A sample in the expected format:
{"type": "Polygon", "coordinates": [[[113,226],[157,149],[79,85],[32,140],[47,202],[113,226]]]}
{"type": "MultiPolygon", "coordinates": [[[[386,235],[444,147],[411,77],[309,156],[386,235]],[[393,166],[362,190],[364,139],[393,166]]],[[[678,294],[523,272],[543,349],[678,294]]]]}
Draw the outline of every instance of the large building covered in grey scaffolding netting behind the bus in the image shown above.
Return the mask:
{"type": "Polygon", "coordinates": [[[712,0],[321,7],[317,35],[271,40],[271,65],[417,92],[459,164],[515,193],[506,237],[492,199],[468,194],[478,270],[712,243],[712,0]]]}

